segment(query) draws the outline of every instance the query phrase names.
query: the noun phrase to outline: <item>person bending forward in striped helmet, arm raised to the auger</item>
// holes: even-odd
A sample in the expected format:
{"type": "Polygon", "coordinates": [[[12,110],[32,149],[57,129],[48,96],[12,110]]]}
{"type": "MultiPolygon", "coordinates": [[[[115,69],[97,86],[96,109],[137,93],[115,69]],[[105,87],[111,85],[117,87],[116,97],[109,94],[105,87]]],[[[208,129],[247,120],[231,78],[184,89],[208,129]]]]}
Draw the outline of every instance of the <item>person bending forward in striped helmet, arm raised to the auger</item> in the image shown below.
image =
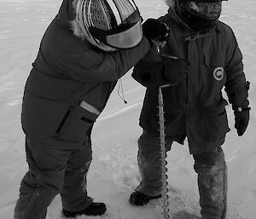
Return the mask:
{"type": "Polygon", "coordinates": [[[29,170],[15,219],[44,219],[58,193],[64,216],[106,211],[86,191],[90,133],[117,80],[148,52],[151,38],[168,35],[160,21],[143,28],[141,21],[129,0],[62,2],[26,81],[21,123],[29,170]]]}

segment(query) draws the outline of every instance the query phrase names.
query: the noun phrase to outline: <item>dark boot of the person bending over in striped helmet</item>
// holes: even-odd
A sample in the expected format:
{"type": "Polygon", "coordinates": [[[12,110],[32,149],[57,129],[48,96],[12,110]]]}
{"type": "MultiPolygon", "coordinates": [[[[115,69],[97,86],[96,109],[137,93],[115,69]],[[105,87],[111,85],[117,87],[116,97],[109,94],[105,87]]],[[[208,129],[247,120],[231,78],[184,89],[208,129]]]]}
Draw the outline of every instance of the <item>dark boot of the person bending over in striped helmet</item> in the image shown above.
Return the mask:
{"type": "Polygon", "coordinates": [[[104,203],[92,202],[86,209],[80,211],[62,210],[63,216],[74,218],[76,216],[102,216],[107,210],[104,203]]]}

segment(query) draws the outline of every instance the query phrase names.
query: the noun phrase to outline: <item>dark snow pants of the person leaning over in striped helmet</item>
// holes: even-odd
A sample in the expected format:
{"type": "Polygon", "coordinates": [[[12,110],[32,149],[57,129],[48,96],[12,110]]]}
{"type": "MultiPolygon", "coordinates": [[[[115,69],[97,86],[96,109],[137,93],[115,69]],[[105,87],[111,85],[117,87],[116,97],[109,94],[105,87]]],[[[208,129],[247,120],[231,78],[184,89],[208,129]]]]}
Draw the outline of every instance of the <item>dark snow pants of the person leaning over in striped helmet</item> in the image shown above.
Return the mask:
{"type": "Polygon", "coordinates": [[[86,192],[91,162],[90,137],[79,149],[63,150],[26,138],[29,170],[20,182],[15,219],[45,219],[47,208],[61,194],[63,209],[84,210],[92,199],[86,192]]]}

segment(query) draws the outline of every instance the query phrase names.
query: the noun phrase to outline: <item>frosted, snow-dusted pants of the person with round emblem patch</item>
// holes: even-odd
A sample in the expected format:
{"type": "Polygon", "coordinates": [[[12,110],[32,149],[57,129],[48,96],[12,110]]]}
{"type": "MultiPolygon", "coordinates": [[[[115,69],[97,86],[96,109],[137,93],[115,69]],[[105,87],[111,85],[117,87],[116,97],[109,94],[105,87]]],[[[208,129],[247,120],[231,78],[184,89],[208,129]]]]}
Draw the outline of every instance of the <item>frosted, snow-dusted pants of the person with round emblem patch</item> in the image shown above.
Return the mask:
{"type": "MultiPolygon", "coordinates": [[[[155,196],[162,192],[160,167],[160,140],[144,130],[138,140],[137,162],[142,182],[135,189],[155,196]]],[[[166,138],[166,151],[170,151],[172,140],[166,138]]],[[[198,174],[202,219],[224,219],[227,198],[227,167],[221,147],[211,153],[193,155],[194,169],[198,174]]]]}

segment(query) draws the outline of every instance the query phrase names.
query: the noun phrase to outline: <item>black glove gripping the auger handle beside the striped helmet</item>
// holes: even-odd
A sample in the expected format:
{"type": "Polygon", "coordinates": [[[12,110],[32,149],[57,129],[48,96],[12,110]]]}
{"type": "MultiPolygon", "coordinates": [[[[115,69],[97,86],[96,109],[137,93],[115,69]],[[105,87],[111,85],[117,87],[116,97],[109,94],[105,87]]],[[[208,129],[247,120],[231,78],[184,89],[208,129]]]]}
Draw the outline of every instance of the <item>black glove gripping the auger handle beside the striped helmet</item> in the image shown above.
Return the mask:
{"type": "Polygon", "coordinates": [[[149,18],[143,23],[143,34],[147,37],[150,46],[153,45],[153,39],[160,42],[166,41],[170,35],[169,32],[169,27],[160,20],[149,18]]]}

